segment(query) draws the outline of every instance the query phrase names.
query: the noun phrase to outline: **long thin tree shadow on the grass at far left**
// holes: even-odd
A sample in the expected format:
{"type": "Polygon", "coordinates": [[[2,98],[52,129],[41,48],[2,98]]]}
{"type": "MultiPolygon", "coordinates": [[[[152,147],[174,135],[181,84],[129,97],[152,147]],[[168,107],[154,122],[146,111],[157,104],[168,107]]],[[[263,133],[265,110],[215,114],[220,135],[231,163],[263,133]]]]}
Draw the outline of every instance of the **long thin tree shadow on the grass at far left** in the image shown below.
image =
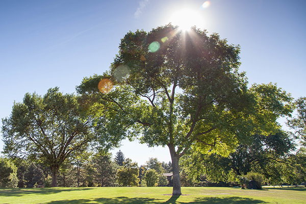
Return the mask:
{"type": "Polygon", "coordinates": [[[90,188],[15,188],[15,189],[0,189],[0,196],[23,196],[26,194],[55,194],[61,192],[69,192],[69,191],[83,191],[90,190],[90,188]]]}

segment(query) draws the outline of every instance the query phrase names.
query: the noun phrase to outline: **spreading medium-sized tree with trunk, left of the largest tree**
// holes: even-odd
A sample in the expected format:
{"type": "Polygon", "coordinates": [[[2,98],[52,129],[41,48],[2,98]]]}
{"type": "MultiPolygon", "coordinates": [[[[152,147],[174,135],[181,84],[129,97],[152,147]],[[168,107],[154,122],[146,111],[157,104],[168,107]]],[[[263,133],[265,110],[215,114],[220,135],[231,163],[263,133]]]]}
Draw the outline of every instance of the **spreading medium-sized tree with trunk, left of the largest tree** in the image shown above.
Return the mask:
{"type": "Polygon", "coordinates": [[[39,159],[52,171],[52,186],[65,159],[87,148],[93,139],[92,117],[82,117],[77,96],[51,88],[42,97],[25,94],[2,119],[4,153],[39,159]]]}

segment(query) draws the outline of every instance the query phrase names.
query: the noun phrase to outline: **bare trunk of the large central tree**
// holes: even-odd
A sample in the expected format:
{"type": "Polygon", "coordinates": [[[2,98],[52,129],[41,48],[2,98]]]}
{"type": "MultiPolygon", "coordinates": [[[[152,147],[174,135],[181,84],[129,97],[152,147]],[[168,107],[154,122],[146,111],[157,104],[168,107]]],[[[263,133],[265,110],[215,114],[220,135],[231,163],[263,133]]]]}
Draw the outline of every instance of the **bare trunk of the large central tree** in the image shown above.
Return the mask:
{"type": "Polygon", "coordinates": [[[175,152],[175,147],[173,145],[168,145],[172,160],[172,172],[173,172],[173,189],[172,195],[182,195],[181,191],[181,179],[180,179],[180,167],[179,167],[179,155],[175,152]]]}

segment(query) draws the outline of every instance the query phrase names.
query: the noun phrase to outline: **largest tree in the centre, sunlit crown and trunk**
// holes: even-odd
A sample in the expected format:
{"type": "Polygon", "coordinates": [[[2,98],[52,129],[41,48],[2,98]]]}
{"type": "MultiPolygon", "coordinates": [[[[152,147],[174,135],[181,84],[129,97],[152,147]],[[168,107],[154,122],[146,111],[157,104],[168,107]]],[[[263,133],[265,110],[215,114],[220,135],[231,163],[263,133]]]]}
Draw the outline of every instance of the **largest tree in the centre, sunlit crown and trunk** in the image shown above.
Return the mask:
{"type": "Polygon", "coordinates": [[[77,90],[111,116],[101,125],[106,138],[138,136],[150,147],[168,146],[173,194],[180,195],[179,159],[191,145],[233,150],[291,112],[290,95],[275,85],[248,88],[239,53],[239,45],[196,28],[129,32],[110,72],[85,78],[77,90]]]}

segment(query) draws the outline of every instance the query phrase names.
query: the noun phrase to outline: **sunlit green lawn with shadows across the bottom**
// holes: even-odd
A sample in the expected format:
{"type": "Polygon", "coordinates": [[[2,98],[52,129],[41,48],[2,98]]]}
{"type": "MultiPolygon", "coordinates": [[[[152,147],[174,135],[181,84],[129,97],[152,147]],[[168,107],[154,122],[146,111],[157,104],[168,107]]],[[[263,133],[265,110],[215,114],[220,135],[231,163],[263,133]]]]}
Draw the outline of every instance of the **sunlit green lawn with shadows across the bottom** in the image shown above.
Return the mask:
{"type": "Polygon", "coordinates": [[[306,188],[243,190],[222,187],[183,187],[171,196],[167,187],[98,187],[0,189],[0,203],[305,203],[306,188]]]}

